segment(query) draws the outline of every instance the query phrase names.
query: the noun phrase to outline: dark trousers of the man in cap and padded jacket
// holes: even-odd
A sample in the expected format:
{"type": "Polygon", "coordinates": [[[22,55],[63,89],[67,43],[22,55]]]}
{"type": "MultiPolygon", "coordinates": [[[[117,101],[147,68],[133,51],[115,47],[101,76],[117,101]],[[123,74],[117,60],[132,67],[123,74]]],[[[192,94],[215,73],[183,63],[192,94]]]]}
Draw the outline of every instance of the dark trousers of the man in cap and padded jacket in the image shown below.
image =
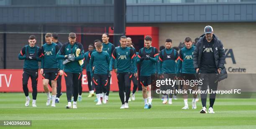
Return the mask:
{"type": "MultiPolygon", "coordinates": [[[[202,79],[202,86],[201,91],[203,91],[205,94],[200,94],[201,96],[201,102],[202,106],[206,107],[206,101],[207,101],[207,89],[209,86],[209,91],[216,91],[218,88],[218,73],[201,73],[200,78],[202,79]]],[[[210,107],[213,108],[213,104],[215,102],[216,94],[210,94],[210,107]]]]}

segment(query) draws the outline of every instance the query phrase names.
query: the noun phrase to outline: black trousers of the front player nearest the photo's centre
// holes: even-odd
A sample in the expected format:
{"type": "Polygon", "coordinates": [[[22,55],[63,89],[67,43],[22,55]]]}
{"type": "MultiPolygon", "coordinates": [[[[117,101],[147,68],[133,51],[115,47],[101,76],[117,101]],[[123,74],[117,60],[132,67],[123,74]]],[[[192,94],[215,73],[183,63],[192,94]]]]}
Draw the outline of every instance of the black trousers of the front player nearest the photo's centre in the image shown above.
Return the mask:
{"type": "Polygon", "coordinates": [[[117,73],[118,78],[118,88],[119,88],[119,97],[122,104],[128,103],[130,94],[131,94],[131,73],[117,73]],[[124,91],[125,91],[125,98],[124,100],[124,91]]]}

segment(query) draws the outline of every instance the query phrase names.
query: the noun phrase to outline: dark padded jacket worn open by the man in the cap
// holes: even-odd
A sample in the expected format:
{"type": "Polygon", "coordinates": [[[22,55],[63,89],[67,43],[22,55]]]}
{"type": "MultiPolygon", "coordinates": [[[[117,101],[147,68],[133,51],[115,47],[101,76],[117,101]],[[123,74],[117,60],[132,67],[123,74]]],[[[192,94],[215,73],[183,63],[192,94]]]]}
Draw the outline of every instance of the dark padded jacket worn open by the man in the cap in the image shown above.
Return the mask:
{"type": "MultiPolygon", "coordinates": [[[[205,34],[200,36],[200,39],[197,42],[197,47],[195,48],[194,51],[194,68],[200,69],[200,65],[201,65],[201,56],[202,56],[202,50],[203,50],[203,42],[205,39],[205,34]]],[[[222,68],[222,71],[220,73],[225,73],[225,74],[220,74],[220,80],[223,80],[225,78],[227,78],[227,71],[225,69],[224,63],[225,63],[225,52],[224,52],[224,47],[223,44],[221,43],[221,41],[217,38],[217,36],[215,34],[213,34],[212,36],[212,40],[213,40],[213,55],[214,55],[214,59],[215,59],[215,66],[216,69],[218,68],[222,68]]]]}

